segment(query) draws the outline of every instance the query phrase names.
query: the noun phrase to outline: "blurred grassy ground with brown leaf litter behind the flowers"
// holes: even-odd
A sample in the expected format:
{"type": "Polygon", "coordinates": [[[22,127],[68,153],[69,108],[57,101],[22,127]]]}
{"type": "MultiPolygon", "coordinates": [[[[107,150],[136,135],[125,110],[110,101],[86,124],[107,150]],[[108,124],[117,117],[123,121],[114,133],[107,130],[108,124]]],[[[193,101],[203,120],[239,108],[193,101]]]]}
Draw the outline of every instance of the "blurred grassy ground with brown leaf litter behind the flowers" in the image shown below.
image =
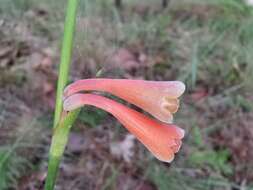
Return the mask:
{"type": "MultiPolygon", "coordinates": [[[[0,189],[42,189],[66,0],[0,0],[0,189]]],[[[85,107],[59,190],[253,189],[253,5],[243,0],[80,0],[70,81],[182,80],[172,164],[85,107]]]]}

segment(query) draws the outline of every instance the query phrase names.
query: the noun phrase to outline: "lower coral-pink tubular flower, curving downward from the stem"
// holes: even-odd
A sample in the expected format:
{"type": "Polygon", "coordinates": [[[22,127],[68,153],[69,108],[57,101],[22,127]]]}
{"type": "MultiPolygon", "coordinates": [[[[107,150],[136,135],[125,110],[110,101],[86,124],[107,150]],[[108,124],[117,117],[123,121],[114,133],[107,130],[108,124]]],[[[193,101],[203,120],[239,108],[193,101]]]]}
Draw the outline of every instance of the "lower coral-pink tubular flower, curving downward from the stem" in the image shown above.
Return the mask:
{"type": "Polygon", "coordinates": [[[161,161],[171,162],[180,149],[183,129],[150,119],[116,101],[95,94],[74,94],[63,103],[65,111],[84,105],[92,105],[111,113],[161,161]]]}

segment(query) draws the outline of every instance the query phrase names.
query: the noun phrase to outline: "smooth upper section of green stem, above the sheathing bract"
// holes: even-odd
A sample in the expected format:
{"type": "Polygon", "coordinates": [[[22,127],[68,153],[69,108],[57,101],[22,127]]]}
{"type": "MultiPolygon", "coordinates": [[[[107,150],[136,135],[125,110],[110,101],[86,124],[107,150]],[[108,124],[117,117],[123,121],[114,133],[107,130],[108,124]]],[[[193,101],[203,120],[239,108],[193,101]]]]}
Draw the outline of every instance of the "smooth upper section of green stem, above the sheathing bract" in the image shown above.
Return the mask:
{"type": "Polygon", "coordinates": [[[67,6],[67,15],[64,24],[64,36],[61,51],[61,63],[59,68],[59,77],[57,84],[56,106],[54,115],[54,127],[58,124],[62,112],[63,90],[68,82],[69,66],[71,63],[73,36],[76,23],[78,0],[69,0],[67,6]]]}

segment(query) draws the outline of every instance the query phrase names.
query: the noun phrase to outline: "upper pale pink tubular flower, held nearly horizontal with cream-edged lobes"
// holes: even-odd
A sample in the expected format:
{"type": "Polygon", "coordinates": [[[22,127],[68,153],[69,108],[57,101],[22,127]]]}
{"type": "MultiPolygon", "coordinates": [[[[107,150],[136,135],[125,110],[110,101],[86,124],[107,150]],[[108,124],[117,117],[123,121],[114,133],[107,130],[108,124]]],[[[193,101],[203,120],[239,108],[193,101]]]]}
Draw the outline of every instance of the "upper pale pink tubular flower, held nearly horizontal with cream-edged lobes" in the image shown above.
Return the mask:
{"type": "Polygon", "coordinates": [[[80,91],[104,91],[118,96],[147,111],[157,119],[171,123],[179,100],[185,91],[180,81],[145,81],[127,79],[78,80],[64,91],[64,98],[80,91]]]}

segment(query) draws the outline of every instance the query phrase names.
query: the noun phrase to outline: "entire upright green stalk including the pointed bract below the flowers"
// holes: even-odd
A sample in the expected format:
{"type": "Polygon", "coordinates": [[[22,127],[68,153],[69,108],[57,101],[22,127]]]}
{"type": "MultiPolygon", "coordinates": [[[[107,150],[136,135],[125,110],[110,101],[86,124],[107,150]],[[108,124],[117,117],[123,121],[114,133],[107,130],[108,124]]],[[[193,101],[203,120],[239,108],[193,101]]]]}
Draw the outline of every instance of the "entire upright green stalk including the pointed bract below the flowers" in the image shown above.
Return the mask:
{"type": "Polygon", "coordinates": [[[67,13],[64,24],[64,36],[61,51],[61,62],[59,68],[59,77],[57,84],[56,105],[54,115],[54,134],[52,137],[48,174],[45,184],[45,190],[53,190],[57,178],[58,170],[64,149],[68,142],[69,131],[76,120],[79,110],[62,115],[62,97],[63,90],[68,82],[69,67],[71,63],[73,36],[75,31],[75,21],[78,0],[68,0],[67,13]]]}

